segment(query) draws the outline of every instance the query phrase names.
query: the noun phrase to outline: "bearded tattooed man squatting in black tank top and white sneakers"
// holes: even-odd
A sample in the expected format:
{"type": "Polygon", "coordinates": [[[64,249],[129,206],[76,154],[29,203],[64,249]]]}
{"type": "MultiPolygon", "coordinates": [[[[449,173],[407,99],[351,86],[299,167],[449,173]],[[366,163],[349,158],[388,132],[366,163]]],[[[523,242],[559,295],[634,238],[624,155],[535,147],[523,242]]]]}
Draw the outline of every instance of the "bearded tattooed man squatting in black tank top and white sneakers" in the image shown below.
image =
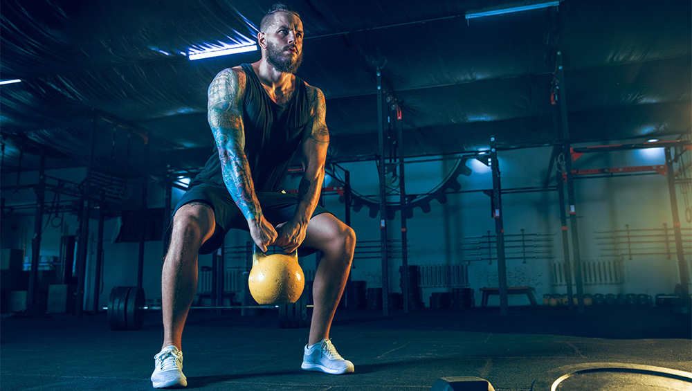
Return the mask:
{"type": "Polygon", "coordinates": [[[329,339],[347,280],[354,231],[317,205],[329,132],[325,96],[295,76],[302,60],[298,13],[275,5],[262,19],[262,59],[219,72],[208,89],[208,120],[218,154],[190,183],[174,211],[163,264],[163,348],[156,354],[154,388],[187,385],[181,336],[197,287],[197,255],[211,253],[230,228],[248,230],[257,246],[291,253],[322,251],[313,284],[314,308],[304,370],[354,371],[329,339]],[[278,191],[295,152],[304,174],[298,197],[278,191]]]}

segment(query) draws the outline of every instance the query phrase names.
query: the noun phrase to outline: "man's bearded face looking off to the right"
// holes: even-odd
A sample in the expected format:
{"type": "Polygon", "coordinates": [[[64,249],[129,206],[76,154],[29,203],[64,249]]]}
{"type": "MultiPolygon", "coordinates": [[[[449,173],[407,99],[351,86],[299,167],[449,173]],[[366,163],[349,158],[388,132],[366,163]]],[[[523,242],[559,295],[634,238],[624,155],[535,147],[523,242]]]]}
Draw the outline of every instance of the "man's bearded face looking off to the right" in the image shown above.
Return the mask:
{"type": "Polygon", "coordinates": [[[277,71],[295,73],[302,62],[302,22],[290,12],[277,12],[267,28],[266,60],[277,71]]]}

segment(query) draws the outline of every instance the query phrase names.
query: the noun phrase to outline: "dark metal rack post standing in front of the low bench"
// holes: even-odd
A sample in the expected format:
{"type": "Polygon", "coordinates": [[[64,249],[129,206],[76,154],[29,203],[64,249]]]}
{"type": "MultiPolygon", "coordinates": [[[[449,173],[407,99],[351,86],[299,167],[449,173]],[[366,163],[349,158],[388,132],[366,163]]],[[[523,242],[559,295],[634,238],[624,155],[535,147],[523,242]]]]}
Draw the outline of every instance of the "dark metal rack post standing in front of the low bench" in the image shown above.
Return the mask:
{"type": "Polygon", "coordinates": [[[502,185],[500,183],[500,165],[495,136],[490,138],[490,161],[493,170],[493,217],[495,218],[495,237],[498,252],[498,287],[500,289],[500,315],[507,315],[507,262],[504,256],[504,226],[502,224],[502,185]]]}

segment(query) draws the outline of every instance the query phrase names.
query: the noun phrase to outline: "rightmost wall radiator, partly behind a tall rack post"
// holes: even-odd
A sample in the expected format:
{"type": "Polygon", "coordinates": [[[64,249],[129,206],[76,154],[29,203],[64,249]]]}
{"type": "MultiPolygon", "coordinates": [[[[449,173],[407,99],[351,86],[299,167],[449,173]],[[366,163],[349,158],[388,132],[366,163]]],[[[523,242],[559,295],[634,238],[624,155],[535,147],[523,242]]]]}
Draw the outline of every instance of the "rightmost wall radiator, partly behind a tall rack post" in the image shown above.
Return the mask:
{"type": "MultiPolygon", "coordinates": [[[[574,270],[574,262],[572,262],[574,270]]],[[[552,284],[566,285],[565,262],[552,264],[552,284]]],[[[623,261],[620,259],[582,260],[581,280],[584,285],[612,285],[622,284],[624,280],[623,261]]],[[[572,282],[574,283],[574,273],[572,282]]]]}

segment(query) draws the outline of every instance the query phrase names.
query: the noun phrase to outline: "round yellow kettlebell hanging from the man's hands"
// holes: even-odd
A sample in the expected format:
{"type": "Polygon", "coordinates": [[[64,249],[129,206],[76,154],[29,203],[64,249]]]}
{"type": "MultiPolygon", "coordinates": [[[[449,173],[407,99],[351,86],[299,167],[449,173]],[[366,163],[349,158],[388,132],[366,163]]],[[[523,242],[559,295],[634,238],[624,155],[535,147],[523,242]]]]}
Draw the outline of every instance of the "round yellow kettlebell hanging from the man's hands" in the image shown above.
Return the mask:
{"type": "Polygon", "coordinates": [[[248,285],[258,304],[298,301],[305,287],[305,275],[298,264],[298,250],[288,255],[265,255],[255,245],[248,285]]]}

